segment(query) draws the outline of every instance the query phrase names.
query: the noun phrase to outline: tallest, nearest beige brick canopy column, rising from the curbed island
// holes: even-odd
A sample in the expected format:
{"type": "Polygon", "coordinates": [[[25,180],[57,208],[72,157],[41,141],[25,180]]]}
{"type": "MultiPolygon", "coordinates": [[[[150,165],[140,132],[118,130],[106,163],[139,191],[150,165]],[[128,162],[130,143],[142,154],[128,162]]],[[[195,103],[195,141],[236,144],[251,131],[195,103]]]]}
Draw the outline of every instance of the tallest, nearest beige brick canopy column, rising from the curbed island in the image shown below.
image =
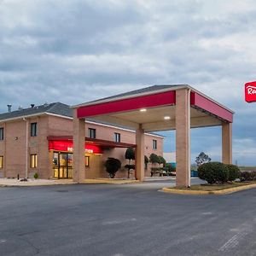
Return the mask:
{"type": "Polygon", "coordinates": [[[190,90],[176,90],[176,186],[190,186],[190,90]]]}

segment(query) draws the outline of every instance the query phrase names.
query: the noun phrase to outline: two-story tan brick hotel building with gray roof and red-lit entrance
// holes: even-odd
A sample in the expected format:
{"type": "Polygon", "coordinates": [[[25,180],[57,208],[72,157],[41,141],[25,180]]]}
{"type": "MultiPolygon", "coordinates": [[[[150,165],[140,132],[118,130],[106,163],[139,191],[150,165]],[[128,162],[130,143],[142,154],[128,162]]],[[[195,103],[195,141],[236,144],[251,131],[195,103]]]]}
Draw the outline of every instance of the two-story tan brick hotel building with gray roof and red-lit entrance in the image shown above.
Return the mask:
{"type": "MultiPolygon", "coordinates": [[[[136,148],[136,133],[125,126],[86,119],[86,178],[108,177],[108,157],[121,161],[116,177],[127,177],[126,148],[136,148]]],[[[163,154],[163,138],[145,134],[145,155],[163,154]]],[[[73,109],[55,102],[0,114],[0,177],[73,178],[73,109]]],[[[131,172],[131,177],[134,177],[131,172]]],[[[150,176],[150,164],[145,166],[150,176]]]]}

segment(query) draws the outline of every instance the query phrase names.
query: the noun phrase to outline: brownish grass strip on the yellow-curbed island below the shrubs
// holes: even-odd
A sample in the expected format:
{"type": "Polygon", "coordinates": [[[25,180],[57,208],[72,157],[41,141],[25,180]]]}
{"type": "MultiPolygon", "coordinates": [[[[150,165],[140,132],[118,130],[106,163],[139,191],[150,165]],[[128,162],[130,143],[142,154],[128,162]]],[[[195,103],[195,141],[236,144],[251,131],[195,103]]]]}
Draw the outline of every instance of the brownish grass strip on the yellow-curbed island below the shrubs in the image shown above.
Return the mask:
{"type": "Polygon", "coordinates": [[[183,190],[198,190],[198,191],[213,191],[213,190],[223,190],[223,189],[232,189],[240,186],[246,186],[256,184],[256,181],[252,182],[236,182],[236,183],[224,183],[224,184],[199,184],[199,185],[191,185],[190,188],[178,188],[172,187],[168,189],[183,189],[183,190]]]}

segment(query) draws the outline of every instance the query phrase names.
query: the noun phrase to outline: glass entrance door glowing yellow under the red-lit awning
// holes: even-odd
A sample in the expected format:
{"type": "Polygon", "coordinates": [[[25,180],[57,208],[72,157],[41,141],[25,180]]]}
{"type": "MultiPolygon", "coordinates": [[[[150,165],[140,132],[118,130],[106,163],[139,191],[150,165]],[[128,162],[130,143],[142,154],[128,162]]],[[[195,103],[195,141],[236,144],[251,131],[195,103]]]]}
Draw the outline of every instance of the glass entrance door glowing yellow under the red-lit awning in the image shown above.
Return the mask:
{"type": "Polygon", "coordinates": [[[73,177],[73,154],[55,152],[53,158],[54,177],[72,178],[73,177]]]}

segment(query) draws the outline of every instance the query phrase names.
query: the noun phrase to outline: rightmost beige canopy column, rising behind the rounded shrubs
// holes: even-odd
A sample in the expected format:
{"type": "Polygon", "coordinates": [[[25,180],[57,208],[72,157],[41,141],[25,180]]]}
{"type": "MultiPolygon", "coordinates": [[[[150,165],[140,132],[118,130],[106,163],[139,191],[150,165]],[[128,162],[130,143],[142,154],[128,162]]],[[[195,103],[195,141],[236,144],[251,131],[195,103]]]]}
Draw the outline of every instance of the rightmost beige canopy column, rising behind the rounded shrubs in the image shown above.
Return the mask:
{"type": "Polygon", "coordinates": [[[232,123],[222,125],[222,162],[232,164],[232,123]]]}

